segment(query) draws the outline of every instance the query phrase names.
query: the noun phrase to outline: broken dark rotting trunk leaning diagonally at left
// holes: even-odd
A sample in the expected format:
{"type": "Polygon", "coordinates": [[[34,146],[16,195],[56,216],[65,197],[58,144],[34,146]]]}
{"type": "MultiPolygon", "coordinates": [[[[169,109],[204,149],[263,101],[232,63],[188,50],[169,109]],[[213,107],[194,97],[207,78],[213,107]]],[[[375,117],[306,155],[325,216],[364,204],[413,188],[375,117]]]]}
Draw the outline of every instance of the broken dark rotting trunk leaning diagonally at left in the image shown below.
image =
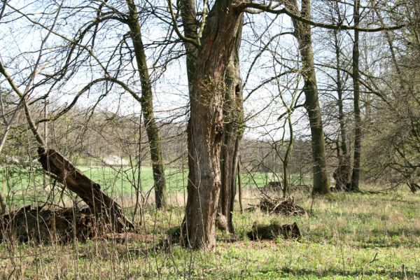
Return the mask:
{"type": "Polygon", "coordinates": [[[123,232],[133,229],[134,224],[123,214],[123,209],[106,195],[99,184],[87,178],[69,160],[53,149],[38,148],[38,161],[53,179],[76,193],[91,209],[98,221],[112,225],[112,230],[123,232]]]}

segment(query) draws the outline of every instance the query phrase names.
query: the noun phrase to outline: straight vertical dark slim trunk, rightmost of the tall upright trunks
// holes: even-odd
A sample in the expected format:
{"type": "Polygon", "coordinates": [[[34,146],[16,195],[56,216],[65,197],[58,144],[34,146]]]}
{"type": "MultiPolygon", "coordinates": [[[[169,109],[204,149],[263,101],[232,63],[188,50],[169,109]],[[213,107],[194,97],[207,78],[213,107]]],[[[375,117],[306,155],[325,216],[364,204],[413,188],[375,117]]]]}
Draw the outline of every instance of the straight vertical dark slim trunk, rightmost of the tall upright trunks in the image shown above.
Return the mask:
{"type": "MultiPolygon", "coordinates": [[[[354,25],[359,24],[360,0],[354,1],[353,17],[354,25]]],[[[359,190],[360,179],[360,152],[362,130],[360,117],[360,83],[359,83],[359,32],[354,30],[353,42],[353,94],[354,94],[354,155],[353,155],[353,174],[351,174],[351,190],[359,190]]]]}

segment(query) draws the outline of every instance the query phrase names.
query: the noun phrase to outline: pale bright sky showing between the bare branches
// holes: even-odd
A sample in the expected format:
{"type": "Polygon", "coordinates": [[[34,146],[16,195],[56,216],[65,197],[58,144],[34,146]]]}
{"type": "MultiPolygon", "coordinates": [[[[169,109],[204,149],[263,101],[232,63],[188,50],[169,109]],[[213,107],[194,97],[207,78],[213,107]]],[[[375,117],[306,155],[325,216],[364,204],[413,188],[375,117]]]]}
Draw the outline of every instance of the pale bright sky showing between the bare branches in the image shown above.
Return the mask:
{"type": "MultiPolygon", "coordinates": [[[[57,10],[57,6],[51,3],[52,1],[9,1],[10,6],[20,9],[22,13],[27,14],[29,19],[40,22],[45,26],[52,25],[52,18],[55,17],[55,11],[57,10]],[[48,14],[43,15],[43,11],[48,12],[48,14]]],[[[55,32],[66,38],[72,38],[85,22],[94,18],[92,10],[86,8],[80,8],[81,12],[76,15],[71,14],[73,10],[69,10],[66,6],[72,6],[76,3],[80,3],[80,1],[67,0],[64,2],[64,7],[60,11],[57,25],[55,26],[55,32]]],[[[11,12],[13,12],[13,9],[7,8],[3,19],[0,20],[0,37],[2,38],[0,41],[0,59],[6,64],[8,71],[13,74],[13,78],[22,83],[30,74],[31,66],[33,66],[38,55],[37,50],[47,31],[34,25],[28,18],[11,12]],[[22,71],[22,69],[26,70],[22,71]]],[[[294,90],[302,88],[302,82],[297,84],[297,75],[289,74],[282,76],[278,85],[276,83],[268,83],[258,90],[253,90],[276,73],[284,73],[290,68],[300,68],[297,43],[290,34],[277,37],[267,46],[266,51],[262,55],[258,55],[261,48],[272,36],[292,31],[290,18],[286,15],[246,15],[245,22],[240,51],[241,77],[245,80],[248,76],[244,88],[244,98],[246,99],[244,110],[247,120],[246,125],[248,126],[245,136],[254,139],[279,139],[283,135],[283,130],[276,130],[277,127],[282,125],[282,122],[279,122],[277,118],[286,110],[279,100],[279,94],[282,94],[286,103],[290,103],[291,95],[294,90]],[[254,62],[255,57],[258,57],[258,59],[254,62]],[[277,63],[274,58],[281,60],[283,65],[277,63]],[[250,92],[252,93],[248,97],[250,92]],[[269,136],[265,136],[267,133],[269,136]]],[[[142,22],[142,35],[145,45],[162,41],[162,38],[165,38],[169,30],[170,26],[161,20],[148,19],[142,22]]],[[[320,29],[313,30],[316,62],[321,63],[333,60],[334,55],[330,47],[325,46],[325,41],[330,39],[328,38],[330,34],[328,34],[328,31],[320,31],[320,29]]],[[[124,52],[122,55],[114,52],[116,45],[120,43],[121,38],[126,33],[127,27],[116,21],[99,25],[94,48],[91,49],[90,53],[83,50],[81,57],[85,60],[79,59],[80,66],[75,70],[75,73],[70,78],[66,76],[66,78],[55,85],[55,88],[50,92],[50,102],[55,103],[56,106],[69,104],[82,87],[87,85],[92,79],[104,76],[104,71],[100,69],[95,59],[90,57],[91,54],[94,54],[104,64],[110,62],[109,69],[120,67],[120,79],[127,81],[134,91],[140,93],[139,78],[133,74],[135,67],[132,59],[128,56],[127,48],[121,49],[124,52]]],[[[346,36],[346,34],[343,34],[343,36],[346,36]]],[[[81,43],[89,46],[92,41],[82,41],[81,43]]],[[[350,43],[350,36],[344,38],[344,44],[347,44],[347,46],[344,48],[343,55],[347,59],[349,57],[346,56],[351,54],[348,46],[350,43]]],[[[130,47],[130,45],[130,40],[127,40],[127,47],[130,47]]],[[[41,63],[44,68],[35,82],[41,80],[45,75],[54,73],[57,70],[56,67],[64,65],[69,41],[56,34],[51,34],[46,46],[41,63]]],[[[178,43],[177,45],[170,45],[165,50],[165,53],[177,55],[182,50],[182,45],[178,43]]],[[[149,67],[155,63],[159,66],[160,60],[158,55],[161,51],[162,46],[158,44],[151,45],[146,50],[149,67]]],[[[368,57],[366,60],[372,61],[373,59],[373,57],[368,57]]],[[[328,71],[325,69],[317,71],[319,85],[331,83],[328,74],[328,71]]],[[[156,71],[151,71],[152,78],[157,78],[158,76],[159,79],[153,85],[156,117],[165,120],[166,118],[172,118],[174,115],[180,115],[179,121],[185,122],[187,118],[185,115],[186,106],[188,106],[185,57],[169,62],[164,72],[162,72],[160,67],[156,71]]],[[[3,83],[3,77],[0,80],[3,83]]],[[[21,87],[24,86],[25,83],[22,83],[21,87]]],[[[31,99],[42,96],[48,90],[50,90],[50,85],[38,87],[31,93],[31,99]]],[[[80,97],[77,106],[79,108],[92,106],[104,93],[104,90],[106,90],[104,84],[92,87],[90,92],[86,92],[80,97]]],[[[323,93],[322,87],[320,87],[320,91],[323,93]]],[[[331,98],[325,95],[326,101],[321,101],[328,102],[329,99],[331,98]]],[[[303,98],[300,103],[302,102],[303,98]]],[[[350,104],[351,102],[347,103],[350,104]]],[[[97,108],[123,115],[138,114],[141,111],[141,106],[129,94],[115,86],[111,88],[111,93],[102,99],[97,108]]],[[[306,119],[303,110],[297,110],[294,113],[295,129],[302,132],[302,134],[309,133],[306,119]]],[[[287,135],[288,132],[286,132],[286,137],[287,135]]]]}

